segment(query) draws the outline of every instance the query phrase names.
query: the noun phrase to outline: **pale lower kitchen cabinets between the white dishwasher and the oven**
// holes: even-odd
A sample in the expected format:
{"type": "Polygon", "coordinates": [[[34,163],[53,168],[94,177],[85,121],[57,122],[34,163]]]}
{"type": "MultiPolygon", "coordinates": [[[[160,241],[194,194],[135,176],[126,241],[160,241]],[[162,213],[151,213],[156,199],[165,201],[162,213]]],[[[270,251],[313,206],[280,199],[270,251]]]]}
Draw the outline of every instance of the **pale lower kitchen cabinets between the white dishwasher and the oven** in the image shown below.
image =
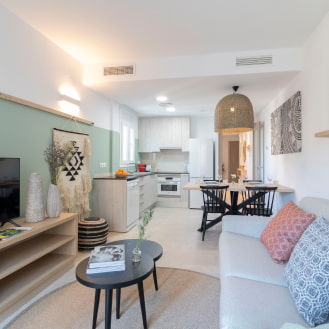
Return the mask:
{"type": "Polygon", "coordinates": [[[153,208],[157,201],[156,175],[139,177],[139,214],[140,217],[147,209],[153,208]]]}

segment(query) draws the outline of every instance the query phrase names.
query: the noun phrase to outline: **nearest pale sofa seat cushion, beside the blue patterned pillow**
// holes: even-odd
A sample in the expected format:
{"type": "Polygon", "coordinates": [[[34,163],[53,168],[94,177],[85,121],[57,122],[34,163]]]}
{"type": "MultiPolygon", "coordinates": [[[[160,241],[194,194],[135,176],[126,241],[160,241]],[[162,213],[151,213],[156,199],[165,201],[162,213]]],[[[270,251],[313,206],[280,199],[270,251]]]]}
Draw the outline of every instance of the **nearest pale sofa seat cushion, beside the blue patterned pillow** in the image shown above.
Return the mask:
{"type": "Polygon", "coordinates": [[[221,278],[221,329],[278,329],[284,322],[307,323],[287,287],[233,276],[221,278]]]}

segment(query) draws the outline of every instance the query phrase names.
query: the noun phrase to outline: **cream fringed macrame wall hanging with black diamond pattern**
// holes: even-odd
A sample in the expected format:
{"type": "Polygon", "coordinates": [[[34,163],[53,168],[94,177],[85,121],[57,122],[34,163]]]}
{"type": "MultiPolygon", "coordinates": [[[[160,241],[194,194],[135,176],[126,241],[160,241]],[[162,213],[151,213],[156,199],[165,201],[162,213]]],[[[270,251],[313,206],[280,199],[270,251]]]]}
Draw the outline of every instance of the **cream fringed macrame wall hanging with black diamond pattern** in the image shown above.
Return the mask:
{"type": "Polygon", "coordinates": [[[78,213],[79,219],[89,216],[89,175],[90,139],[82,132],[72,132],[54,128],[54,142],[72,142],[72,158],[59,177],[58,187],[61,194],[63,212],[78,213]]]}

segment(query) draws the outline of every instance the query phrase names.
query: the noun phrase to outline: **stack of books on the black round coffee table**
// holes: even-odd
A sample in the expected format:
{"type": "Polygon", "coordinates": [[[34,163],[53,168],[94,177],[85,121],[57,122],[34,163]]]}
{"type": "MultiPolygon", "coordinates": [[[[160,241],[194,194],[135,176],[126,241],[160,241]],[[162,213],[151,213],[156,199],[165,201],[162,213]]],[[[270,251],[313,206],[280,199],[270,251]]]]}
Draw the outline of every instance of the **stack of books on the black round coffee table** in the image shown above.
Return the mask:
{"type": "Polygon", "coordinates": [[[97,246],[90,254],[87,274],[124,271],[125,269],[124,244],[97,246]]]}

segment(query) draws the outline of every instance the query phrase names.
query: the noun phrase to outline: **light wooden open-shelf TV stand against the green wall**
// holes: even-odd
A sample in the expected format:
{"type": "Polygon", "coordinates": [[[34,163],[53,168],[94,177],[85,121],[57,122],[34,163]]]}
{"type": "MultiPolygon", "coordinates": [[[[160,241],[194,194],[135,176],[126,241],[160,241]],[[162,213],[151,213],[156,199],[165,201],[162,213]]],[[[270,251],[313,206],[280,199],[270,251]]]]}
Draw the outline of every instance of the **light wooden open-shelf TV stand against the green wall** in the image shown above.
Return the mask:
{"type": "Polygon", "coordinates": [[[69,270],[78,249],[77,214],[17,223],[32,230],[0,241],[0,322],[69,270]]]}

